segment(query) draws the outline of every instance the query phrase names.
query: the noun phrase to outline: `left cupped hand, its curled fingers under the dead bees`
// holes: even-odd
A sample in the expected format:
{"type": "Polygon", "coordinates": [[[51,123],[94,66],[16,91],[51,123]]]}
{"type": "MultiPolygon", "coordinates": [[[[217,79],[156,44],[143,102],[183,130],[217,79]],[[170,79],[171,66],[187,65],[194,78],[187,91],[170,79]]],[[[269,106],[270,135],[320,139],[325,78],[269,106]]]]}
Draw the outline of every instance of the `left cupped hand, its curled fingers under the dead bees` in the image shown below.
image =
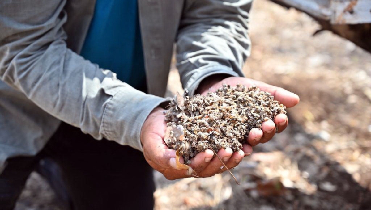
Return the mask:
{"type": "MultiPolygon", "coordinates": [[[[207,149],[198,153],[191,159],[190,167],[194,170],[190,174],[187,169],[178,170],[175,161],[175,150],[169,149],[164,142],[166,130],[164,109],[156,108],[144,122],[140,139],[143,146],[143,154],[152,168],[160,171],[167,179],[174,180],[184,177],[210,177],[227,170],[218,158],[213,158],[213,151],[207,149]]],[[[219,150],[218,156],[229,168],[236,167],[244,156],[251,154],[252,147],[244,145],[242,150],[233,153],[232,149],[219,150]]],[[[182,157],[180,162],[184,163],[182,157]]]]}

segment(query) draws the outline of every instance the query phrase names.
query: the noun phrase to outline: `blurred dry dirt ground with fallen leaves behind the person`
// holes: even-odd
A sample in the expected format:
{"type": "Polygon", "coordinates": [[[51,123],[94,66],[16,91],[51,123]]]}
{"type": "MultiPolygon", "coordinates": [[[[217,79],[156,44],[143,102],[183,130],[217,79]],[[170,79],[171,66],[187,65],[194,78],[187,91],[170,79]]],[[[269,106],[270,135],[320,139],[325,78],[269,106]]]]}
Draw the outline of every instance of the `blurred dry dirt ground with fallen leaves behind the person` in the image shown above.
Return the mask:
{"type": "MultiPolygon", "coordinates": [[[[289,127],[230,174],[168,181],[155,173],[155,210],[371,209],[371,54],[306,14],[256,0],[247,77],[284,87],[301,102],[289,127]]],[[[371,36],[371,34],[370,34],[371,36]]],[[[170,73],[168,94],[182,91],[170,73]]],[[[63,210],[33,173],[16,210],[63,210]]]]}

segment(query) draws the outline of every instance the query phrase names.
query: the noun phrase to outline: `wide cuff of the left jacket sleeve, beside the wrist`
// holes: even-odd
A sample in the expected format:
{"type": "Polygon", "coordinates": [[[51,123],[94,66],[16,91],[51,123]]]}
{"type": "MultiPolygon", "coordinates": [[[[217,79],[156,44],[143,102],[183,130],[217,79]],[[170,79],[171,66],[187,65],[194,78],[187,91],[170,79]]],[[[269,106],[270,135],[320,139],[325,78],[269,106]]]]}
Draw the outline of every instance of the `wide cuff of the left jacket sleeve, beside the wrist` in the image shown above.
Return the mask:
{"type": "Polygon", "coordinates": [[[168,101],[158,96],[133,91],[118,91],[107,104],[101,133],[108,140],[142,151],[140,133],[153,109],[168,101]]]}

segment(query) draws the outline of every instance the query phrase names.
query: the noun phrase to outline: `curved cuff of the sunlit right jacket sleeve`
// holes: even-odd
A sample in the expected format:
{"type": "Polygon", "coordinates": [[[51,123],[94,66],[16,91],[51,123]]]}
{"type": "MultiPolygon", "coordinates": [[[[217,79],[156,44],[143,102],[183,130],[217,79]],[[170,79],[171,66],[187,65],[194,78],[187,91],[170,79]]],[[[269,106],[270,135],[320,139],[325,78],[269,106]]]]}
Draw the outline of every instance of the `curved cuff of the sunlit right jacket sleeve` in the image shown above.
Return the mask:
{"type": "Polygon", "coordinates": [[[197,70],[193,70],[194,73],[187,81],[184,90],[188,91],[189,96],[194,95],[194,91],[196,91],[197,87],[200,85],[201,81],[206,79],[214,74],[229,74],[230,76],[239,77],[243,75],[237,74],[231,68],[223,66],[223,65],[216,65],[216,66],[209,66],[205,68],[199,68],[197,70]]]}

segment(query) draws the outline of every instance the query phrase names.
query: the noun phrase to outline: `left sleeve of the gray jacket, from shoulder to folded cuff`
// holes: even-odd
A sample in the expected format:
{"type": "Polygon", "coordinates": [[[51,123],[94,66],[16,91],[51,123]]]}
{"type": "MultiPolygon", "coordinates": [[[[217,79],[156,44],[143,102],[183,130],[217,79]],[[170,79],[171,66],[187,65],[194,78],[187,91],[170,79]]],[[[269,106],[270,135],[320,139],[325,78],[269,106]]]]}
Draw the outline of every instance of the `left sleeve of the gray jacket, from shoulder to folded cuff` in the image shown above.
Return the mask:
{"type": "Polygon", "coordinates": [[[64,0],[1,1],[1,80],[95,139],[141,150],[144,120],[165,99],[135,90],[68,49],[64,5],[64,0]]]}

